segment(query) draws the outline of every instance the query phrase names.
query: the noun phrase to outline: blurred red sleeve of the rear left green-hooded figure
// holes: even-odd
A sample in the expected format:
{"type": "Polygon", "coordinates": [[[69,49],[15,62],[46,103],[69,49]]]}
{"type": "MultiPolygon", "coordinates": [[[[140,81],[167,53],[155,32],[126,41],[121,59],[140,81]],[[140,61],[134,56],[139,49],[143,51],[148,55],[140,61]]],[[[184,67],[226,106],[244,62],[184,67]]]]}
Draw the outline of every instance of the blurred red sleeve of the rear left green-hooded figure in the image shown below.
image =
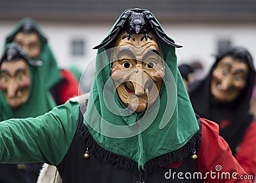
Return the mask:
{"type": "Polygon", "coordinates": [[[79,82],[71,71],[61,70],[61,75],[64,78],[59,90],[61,103],[65,103],[68,99],[82,94],[81,89],[79,89],[79,82]]]}

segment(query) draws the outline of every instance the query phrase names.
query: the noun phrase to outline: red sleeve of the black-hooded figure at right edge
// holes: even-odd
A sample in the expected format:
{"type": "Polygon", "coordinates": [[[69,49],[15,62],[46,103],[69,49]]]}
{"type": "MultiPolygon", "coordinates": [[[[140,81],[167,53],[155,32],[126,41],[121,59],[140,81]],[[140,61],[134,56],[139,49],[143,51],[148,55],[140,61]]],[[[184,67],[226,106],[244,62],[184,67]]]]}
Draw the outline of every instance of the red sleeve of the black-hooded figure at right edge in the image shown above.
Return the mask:
{"type": "Polygon", "coordinates": [[[246,129],[236,159],[248,175],[256,175],[256,121],[246,129]]]}

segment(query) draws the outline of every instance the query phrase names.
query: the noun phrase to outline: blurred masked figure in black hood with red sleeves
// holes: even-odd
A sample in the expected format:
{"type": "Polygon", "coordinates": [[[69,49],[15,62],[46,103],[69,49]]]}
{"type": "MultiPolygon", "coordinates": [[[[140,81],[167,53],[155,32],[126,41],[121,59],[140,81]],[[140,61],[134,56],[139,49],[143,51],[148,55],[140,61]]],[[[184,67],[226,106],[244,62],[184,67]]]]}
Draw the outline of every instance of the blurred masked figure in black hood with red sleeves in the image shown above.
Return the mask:
{"type": "Polygon", "coordinates": [[[220,125],[220,135],[250,175],[256,175],[256,122],[249,113],[254,83],[252,56],[234,47],[216,57],[204,80],[189,85],[195,112],[220,125]]]}

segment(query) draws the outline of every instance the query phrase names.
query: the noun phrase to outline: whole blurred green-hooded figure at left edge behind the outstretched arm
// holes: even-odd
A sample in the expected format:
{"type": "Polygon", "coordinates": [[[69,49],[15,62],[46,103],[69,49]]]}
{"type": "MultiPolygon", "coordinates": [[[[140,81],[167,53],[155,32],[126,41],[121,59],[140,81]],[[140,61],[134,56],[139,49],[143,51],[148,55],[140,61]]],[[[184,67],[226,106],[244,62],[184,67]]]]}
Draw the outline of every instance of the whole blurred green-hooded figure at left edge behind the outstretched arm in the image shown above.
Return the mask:
{"type": "MultiPolygon", "coordinates": [[[[0,61],[0,121],[36,117],[55,106],[38,70],[41,65],[15,43],[7,45],[0,61]]],[[[36,182],[41,166],[42,163],[1,164],[0,182],[36,182]]]]}

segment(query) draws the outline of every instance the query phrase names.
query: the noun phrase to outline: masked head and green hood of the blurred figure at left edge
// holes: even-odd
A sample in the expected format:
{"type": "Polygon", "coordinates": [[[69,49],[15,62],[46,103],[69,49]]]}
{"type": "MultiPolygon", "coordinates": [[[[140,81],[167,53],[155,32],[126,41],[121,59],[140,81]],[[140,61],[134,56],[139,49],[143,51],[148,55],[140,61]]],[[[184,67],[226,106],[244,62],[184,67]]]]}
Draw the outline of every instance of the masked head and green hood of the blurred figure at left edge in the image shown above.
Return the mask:
{"type": "MultiPolygon", "coordinates": [[[[36,117],[48,112],[56,106],[51,94],[45,88],[42,77],[43,73],[42,70],[39,69],[42,64],[44,64],[44,62],[35,61],[29,57],[16,43],[10,43],[6,46],[5,52],[1,57],[0,121],[10,118],[36,117]],[[13,82],[10,82],[10,85],[8,84],[12,76],[3,66],[13,61],[13,59],[23,59],[23,62],[26,63],[24,66],[28,68],[28,76],[21,74],[17,76],[20,77],[20,80],[28,77],[28,79],[25,78],[25,84],[13,84],[13,82]],[[29,82],[27,80],[29,80],[29,82]],[[17,85],[17,88],[12,88],[12,85],[17,85]],[[10,94],[10,92],[13,92],[13,95],[10,94]],[[19,96],[22,96],[20,101],[18,99],[19,96]]],[[[15,66],[11,65],[11,67],[14,68],[15,66]]],[[[20,66],[17,66],[17,70],[15,70],[16,74],[19,71],[19,67],[20,66]]]]}

